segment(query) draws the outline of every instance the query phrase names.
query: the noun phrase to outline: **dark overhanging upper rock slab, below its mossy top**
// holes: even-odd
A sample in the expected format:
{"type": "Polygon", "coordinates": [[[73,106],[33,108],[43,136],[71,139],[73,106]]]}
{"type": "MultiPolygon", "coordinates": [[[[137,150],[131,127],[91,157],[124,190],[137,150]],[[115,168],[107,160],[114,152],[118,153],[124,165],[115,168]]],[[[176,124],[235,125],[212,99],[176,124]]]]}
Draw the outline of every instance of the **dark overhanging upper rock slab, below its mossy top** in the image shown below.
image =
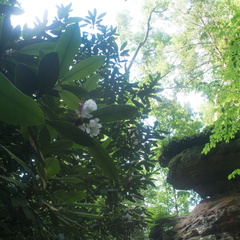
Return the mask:
{"type": "Polygon", "coordinates": [[[169,164],[167,181],[176,189],[193,189],[202,197],[240,189],[239,178],[228,175],[240,168],[240,139],[220,144],[207,155],[201,154],[204,145],[184,149],[169,164]]]}

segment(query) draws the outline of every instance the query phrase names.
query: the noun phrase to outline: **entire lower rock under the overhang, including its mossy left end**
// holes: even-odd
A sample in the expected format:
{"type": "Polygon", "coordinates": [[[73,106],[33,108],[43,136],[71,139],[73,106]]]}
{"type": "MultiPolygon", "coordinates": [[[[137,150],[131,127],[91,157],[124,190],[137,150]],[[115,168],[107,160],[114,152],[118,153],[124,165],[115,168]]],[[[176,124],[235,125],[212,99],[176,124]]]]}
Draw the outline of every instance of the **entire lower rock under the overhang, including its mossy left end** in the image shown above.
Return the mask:
{"type": "Polygon", "coordinates": [[[240,239],[240,193],[203,200],[190,215],[159,220],[154,240],[240,239]]]}

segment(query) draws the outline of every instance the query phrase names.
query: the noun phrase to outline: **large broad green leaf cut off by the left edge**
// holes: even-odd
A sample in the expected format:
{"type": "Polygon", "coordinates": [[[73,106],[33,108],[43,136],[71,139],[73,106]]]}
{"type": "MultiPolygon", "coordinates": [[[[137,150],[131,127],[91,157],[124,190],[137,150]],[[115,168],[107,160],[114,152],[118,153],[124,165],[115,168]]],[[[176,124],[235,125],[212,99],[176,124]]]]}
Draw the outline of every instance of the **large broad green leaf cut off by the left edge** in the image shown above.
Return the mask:
{"type": "Polygon", "coordinates": [[[0,73],[0,120],[8,124],[33,126],[44,122],[42,110],[0,73]]]}

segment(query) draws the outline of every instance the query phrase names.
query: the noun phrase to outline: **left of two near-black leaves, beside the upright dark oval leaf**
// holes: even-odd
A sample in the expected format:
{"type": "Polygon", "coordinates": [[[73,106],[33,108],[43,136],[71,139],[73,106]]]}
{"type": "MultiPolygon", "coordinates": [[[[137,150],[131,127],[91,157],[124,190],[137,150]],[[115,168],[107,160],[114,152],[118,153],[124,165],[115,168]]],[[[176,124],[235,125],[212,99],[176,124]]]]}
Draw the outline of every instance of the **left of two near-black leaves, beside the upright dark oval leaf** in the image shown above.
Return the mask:
{"type": "Polygon", "coordinates": [[[15,86],[24,94],[31,96],[37,91],[38,78],[25,64],[18,64],[15,70],[15,86]]]}

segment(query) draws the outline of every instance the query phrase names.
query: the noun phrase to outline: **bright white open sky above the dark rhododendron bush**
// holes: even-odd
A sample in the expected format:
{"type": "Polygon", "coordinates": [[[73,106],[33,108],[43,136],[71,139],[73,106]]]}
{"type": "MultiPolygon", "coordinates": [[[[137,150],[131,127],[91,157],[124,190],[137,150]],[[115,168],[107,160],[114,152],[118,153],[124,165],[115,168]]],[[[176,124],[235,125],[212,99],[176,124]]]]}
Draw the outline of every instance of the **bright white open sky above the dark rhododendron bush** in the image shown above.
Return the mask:
{"type": "Polygon", "coordinates": [[[67,6],[72,3],[72,16],[84,17],[88,15],[88,10],[93,11],[96,8],[98,14],[107,12],[103,23],[114,26],[115,16],[120,11],[129,10],[134,18],[139,18],[143,0],[19,0],[19,2],[25,13],[12,19],[14,25],[27,23],[32,27],[35,17],[38,16],[41,20],[46,9],[49,19],[53,19],[57,13],[56,5],[67,6]]]}

